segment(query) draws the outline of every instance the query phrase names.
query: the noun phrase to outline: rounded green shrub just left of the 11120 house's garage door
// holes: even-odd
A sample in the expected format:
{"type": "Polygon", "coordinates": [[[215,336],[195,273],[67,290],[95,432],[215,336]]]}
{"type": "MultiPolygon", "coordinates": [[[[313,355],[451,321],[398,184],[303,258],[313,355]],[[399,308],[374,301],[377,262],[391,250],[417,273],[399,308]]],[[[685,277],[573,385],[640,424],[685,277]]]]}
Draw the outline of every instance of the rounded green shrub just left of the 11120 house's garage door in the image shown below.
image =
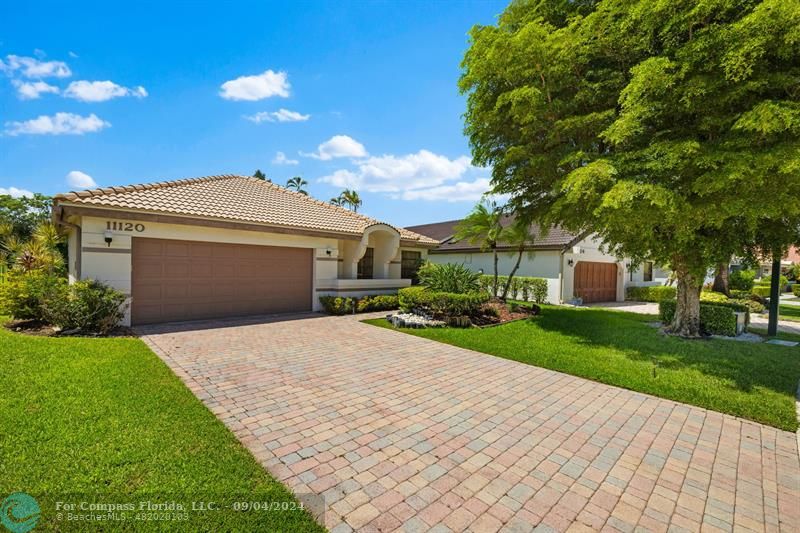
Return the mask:
{"type": "Polygon", "coordinates": [[[42,302],[46,322],[62,329],[106,334],[125,316],[125,295],[96,280],[76,281],[42,302]]]}

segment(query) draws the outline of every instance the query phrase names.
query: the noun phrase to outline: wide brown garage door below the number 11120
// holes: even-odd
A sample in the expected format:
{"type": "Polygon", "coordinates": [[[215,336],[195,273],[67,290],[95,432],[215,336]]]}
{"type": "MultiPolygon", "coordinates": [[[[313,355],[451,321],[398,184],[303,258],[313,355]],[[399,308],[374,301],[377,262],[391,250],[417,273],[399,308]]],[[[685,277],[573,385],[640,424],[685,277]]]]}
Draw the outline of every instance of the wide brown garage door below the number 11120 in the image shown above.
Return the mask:
{"type": "Polygon", "coordinates": [[[131,322],[311,310],[312,250],[133,239],[131,322]]]}

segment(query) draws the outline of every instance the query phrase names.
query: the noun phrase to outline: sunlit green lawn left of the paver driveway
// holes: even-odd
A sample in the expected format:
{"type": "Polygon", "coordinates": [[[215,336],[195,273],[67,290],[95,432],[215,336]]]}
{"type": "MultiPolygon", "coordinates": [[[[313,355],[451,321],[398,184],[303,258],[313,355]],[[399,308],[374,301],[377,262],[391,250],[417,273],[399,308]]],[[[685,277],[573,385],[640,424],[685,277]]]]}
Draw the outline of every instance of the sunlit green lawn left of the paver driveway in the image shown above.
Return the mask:
{"type": "Polygon", "coordinates": [[[15,491],[36,498],[36,531],[324,531],[303,510],[189,508],[188,522],[146,524],[56,520],[56,501],[296,504],[138,339],[37,338],[0,328],[0,391],[0,500],[15,491]]]}

